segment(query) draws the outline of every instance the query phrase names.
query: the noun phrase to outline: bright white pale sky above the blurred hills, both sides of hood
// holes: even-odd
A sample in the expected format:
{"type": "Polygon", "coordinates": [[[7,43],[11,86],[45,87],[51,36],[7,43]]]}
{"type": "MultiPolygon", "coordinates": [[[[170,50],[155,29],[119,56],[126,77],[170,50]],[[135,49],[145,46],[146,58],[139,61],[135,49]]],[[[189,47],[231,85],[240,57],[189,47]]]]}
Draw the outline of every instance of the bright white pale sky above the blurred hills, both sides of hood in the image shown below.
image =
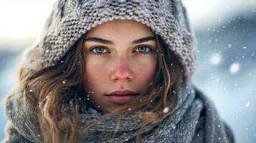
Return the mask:
{"type": "MultiPolygon", "coordinates": [[[[255,0],[183,1],[189,12],[192,29],[218,24],[226,17],[256,7],[255,0]]],[[[1,0],[0,49],[9,49],[8,46],[21,49],[33,44],[42,31],[52,4],[53,0],[1,0]]]]}

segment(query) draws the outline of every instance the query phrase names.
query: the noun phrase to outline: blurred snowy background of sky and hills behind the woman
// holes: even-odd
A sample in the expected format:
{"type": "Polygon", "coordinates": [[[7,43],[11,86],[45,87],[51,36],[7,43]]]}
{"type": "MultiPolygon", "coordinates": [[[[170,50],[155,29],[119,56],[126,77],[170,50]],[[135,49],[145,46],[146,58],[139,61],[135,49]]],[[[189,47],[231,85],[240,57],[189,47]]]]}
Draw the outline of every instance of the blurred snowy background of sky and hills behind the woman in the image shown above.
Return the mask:
{"type": "MultiPolygon", "coordinates": [[[[237,142],[256,142],[256,1],[183,0],[197,37],[193,81],[237,142]]],[[[34,44],[53,0],[0,1],[0,101],[16,83],[22,50],[34,44]]],[[[0,106],[0,140],[6,117],[0,106]]]]}

